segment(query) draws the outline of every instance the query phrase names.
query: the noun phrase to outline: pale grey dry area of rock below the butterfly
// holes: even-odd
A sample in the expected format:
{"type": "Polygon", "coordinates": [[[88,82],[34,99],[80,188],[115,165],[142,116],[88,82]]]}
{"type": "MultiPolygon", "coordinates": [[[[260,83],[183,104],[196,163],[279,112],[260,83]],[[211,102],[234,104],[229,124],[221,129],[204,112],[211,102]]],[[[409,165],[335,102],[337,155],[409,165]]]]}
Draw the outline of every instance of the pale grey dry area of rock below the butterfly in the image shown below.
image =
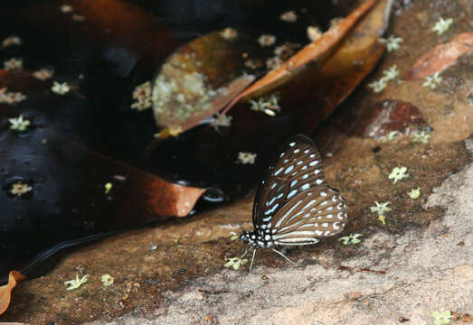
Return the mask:
{"type": "MultiPolygon", "coordinates": [[[[473,140],[467,144],[473,153],[473,140]]],[[[151,318],[131,313],[90,325],[398,324],[402,318],[422,325],[432,324],[433,311],[471,314],[473,163],[433,190],[426,208],[433,206],[446,209],[445,216],[401,236],[378,232],[360,244],[363,256],[343,267],[223,271],[166,292],[166,307],[151,318]]],[[[335,264],[330,252],[313,257],[335,264]]]]}

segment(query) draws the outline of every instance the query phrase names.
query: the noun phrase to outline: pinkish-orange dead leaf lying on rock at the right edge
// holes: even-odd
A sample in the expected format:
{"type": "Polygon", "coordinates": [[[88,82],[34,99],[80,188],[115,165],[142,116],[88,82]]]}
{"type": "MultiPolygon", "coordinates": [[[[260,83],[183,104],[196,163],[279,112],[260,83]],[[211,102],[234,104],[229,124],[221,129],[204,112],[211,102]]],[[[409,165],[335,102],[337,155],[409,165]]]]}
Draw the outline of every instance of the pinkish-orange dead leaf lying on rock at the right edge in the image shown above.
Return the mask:
{"type": "Polygon", "coordinates": [[[422,79],[446,70],[464,54],[473,53],[473,32],[463,32],[448,43],[422,55],[412,66],[407,79],[422,79]]]}

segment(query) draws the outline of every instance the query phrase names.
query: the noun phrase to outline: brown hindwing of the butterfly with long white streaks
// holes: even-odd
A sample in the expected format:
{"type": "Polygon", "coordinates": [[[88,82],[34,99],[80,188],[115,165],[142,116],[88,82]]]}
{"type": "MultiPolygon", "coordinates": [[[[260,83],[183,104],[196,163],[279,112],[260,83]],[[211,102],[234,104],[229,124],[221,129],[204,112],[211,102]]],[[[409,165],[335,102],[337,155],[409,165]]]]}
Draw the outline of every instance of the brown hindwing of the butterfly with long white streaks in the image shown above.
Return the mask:
{"type": "Polygon", "coordinates": [[[340,233],[347,221],[345,200],[328,186],[299,193],[272,218],[271,233],[277,245],[317,243],[316,237],[340,233]]]}

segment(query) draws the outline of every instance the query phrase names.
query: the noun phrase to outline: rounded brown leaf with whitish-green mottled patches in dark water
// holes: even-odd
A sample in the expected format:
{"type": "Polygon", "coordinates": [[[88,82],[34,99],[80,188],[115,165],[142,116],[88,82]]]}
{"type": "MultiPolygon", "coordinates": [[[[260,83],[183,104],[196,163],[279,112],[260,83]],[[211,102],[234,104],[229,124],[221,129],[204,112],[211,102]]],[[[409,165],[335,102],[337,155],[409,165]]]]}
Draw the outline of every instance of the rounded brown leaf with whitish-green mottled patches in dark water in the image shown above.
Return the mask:
{"type": "Polygon", "coordinates": [[[211,32],[185,44],[163,64],[153,85],[160,137],[178,135],[213,116],[254,80],[241,71],[248,38],[211,32]],[[173,132],[178,130],[178,132],[173,132]]]}

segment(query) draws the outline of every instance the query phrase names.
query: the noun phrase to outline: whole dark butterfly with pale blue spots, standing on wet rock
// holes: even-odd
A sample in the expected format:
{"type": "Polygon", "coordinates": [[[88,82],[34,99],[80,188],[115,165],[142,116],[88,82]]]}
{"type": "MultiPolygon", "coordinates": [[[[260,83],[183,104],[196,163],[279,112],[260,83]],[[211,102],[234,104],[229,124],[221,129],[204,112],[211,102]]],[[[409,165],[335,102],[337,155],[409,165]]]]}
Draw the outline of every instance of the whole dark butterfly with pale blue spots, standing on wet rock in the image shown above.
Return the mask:
{"type": "Polygon", "coordinates": [[[326,183],[316,144],[306,135],[293,135],[282,145],[253,203],[253,227],[240,239],[253,249],[316,244],[320,237],[340,233],[346,224],[345,200],[326,183]]]}

